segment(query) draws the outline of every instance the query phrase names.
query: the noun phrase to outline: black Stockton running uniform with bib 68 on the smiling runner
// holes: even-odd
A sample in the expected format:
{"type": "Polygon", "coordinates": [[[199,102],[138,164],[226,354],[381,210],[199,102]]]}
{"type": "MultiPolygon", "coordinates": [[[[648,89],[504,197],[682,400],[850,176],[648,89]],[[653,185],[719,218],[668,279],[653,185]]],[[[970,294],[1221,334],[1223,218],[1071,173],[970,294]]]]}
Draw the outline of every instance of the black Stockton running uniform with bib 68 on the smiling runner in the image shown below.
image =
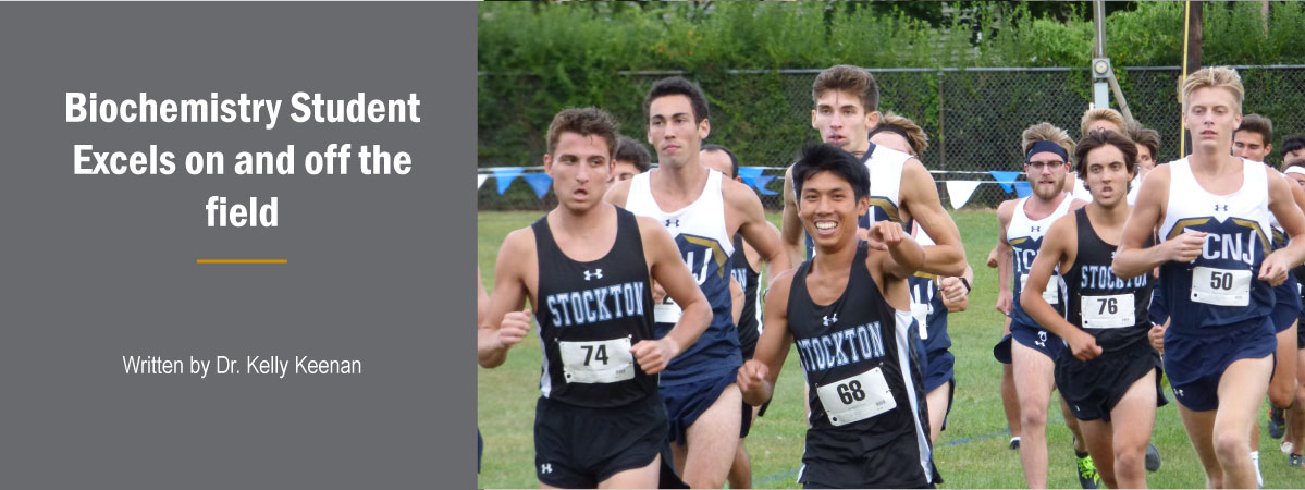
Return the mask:
{"type": "Polygon", "coordinates": [[[799,481],[833,487],[920,487],[934,481],[914,320],[887,304],[852,260],[843,294],[816,304],[808,260],[793,276],[788,329],[810,387],[810,429],[799,481]]]}

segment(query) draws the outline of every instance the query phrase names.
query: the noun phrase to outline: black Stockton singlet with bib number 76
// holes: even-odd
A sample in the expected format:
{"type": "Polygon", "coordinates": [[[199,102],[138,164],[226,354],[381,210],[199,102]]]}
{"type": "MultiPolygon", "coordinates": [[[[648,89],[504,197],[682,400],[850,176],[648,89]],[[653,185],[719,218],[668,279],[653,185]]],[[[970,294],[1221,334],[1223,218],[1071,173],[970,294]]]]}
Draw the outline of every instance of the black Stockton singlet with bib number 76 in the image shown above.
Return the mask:
{"type": "MultiPolygon", "coordinates": [[[[1151,329],[1151,273],[1131,280],[1114,276],[1111,264],[1118,248],[1101,240],[1087,220],[1087,208],[1074,212],[1078,253],[1062,274],[1067,290],[1065,319],[1096,337],[1104,350],[1146,342],[1151,329]]],[[[1144,247],[1150,247],[1147,239],[1144,247]]]]}

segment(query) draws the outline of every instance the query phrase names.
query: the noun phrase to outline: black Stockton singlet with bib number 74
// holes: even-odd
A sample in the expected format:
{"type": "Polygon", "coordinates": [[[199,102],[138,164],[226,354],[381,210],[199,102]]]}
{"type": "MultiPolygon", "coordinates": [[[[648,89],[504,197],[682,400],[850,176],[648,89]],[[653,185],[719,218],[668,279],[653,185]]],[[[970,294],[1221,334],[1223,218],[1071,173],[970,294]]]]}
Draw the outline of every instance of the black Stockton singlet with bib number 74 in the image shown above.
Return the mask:
{"type": "Polygon", "coordinates": [[[562,253],[548,216],[531,225],[539,253],[535,319],[544,350],[539,391],[549,400],[613,408],[656,396],[656,376],[630,348],[652,335],[652,289],[634,214],[616,209],[616,243],[599,260],[562,253]]]}

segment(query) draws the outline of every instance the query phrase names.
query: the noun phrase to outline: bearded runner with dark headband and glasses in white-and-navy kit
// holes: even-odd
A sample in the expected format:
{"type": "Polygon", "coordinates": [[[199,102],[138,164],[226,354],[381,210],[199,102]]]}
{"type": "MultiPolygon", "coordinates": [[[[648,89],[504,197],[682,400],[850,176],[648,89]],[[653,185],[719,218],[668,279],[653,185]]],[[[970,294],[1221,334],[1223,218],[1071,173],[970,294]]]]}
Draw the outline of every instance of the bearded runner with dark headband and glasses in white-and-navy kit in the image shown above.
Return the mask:
{"type": "MultiPolygon", "coordinates": [[[[1024,129],[1024,172],[1034,193],[997,208],[997,220],[1001,223],[997,235],[997,276],[1002,284],[1010,281],[1011,290],[1002,289],[997,295],[997,310],[1010,314],[1010,338],[1004,338],[994,349],[994,354],[998,354],[998,359],[1010,359],[1014,371],[1021,417],[1019,459],[1030,489],[1047,487],[1047,406],[1056,388],[1054,359],[1065,348],[1065,342],[1030,318],[1018,302],[1013,302],[1013,298],[1027,286],[1030,268],[1052,222],[1086,204],[1062,191],[1066,162],[1073,148],[1074,141],[1069,135],[1048,123],[1024,129]],[[1000,260],[1007,253],[1011,256],[1010,261],[1000,260]]],[[[1040,291],[1048,303],[1056,306],[1057,312],[1064,314],[1060,276],[1040,291]]],[[[1087,452],[1078,421],[1069,413],[1064,399],[1061,412],[1065,413],[1065,425],[1074,433],[1079,485],[1095,489],[1099,477],[1094,461],[1087,452]]]]}

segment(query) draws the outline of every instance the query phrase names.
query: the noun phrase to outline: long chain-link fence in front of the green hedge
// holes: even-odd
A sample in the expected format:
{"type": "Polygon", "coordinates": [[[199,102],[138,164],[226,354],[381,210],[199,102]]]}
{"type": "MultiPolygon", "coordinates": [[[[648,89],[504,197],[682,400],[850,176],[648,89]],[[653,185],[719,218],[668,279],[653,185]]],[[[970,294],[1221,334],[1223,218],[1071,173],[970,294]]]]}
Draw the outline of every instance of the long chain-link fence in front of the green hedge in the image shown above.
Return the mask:
{"type": "MultiPolygon", "coordinates": [[[[1284,136],[1305,132],[1305,67],[1237,67],[1246,86],[1244,112],[1257,112],[1272,119],[1275,141],[1284,136]]],[[[992,208],[1014,197],[1009,187],[996,183],[989,171],[1021,171],[1019,137],[1028,125],[1048,122],[1079,136],[1079,118],[1091,102],[1091,74],[1087,69],[1071,68],[966,68],[966,69],[870,69],[880,85],[880,108],[891,110],[914,119],[929,136],[929,148],[921,155],[924,165],[938,180],[938,191],[945,205],[951,206],[947,182],[983,182],[972,188],[967,200],[958,199],[966,208],[992,208]]],[[[701,77],[689,76],[702,86],[711,103],[711,136],[707,142],[728,146],[744,166],[763,167],[763,176],[773,179],[758,183],[762,203],[769,209],[779,209],[779,191],[783,167],[790,165],[806,141],[818,139],[810,128],[812,81],[820,69],[792,71],[727,71],[701,77]]],[[[1161,136],[1158,161],[1178,158],[1181,131],[1177,101],[1177,67],[1138,67],[1117,69],[1120,86],[1133,116],[1161,136]]],[[[621,73],[630,77],[630,93],[620,94],[619,107],[608,103],[603,108],[613,112],[624,132],[636,140],[643,137],[642,90],[669,72],[621,73]]],[[[495,82],[517,84],[522,88],[519,101],[482,99],[482,119],[509,118],[499,111],[509,111],[518,118],[529,103],[531,86],[538,78],[515,74],[482,74],[495,82]],[[488,107],[484,107],[488,105],[488,107]]],[[[600,99],[612,101],[613,94],[600,99]]],[[[1117,102],[1117,101],[1116,101],[1117,102]]],[[[542,112],[536,112],[542,114],[542,112]]],[[[549,115],[551,116],[551,115],[549,115]]],[[[542,118],[536,118],[542,119],[542,118]]],[[[519,120],[518,120],[519,122],[519,120]]],[[[514,125],[517,133],[505,139],[482,124],[482,148],[502,145],[502,141],[521,145],[517,154],[529,154],[529,161],[504,161],[512,152],[482,150],[479,166],[483,175],[493,175],[488,167],[538,166],[543,154],[544,131],[548,120],[514,125]],[[532,128],[522,131],[522,127],[532,128]],[[531,133],[534,132],[534,133],[531,133]],[[493,140],[493,141],[491,141],[493,140]]],[[[504,150],[502,148],[499,148],[504,150]]],[[[655,153],[654,153],[655,159],[655,153]]],[[[1270,158],[1280,161],[1280,152],[1270,158]]],[[[538,169],[527,169],[535,172],[538,169]]],[[[480,209],[545,209],[556,204],[549,193],[538,196],[542,180],[517,179],[500,193],[496,179],[505,174],[482,179],[480,209]],[[532,187],[531,184],[535,184],[532,187]]],[[[510,182],[510,180],[509,180],[510,182]]],[[[962,196],[958,196],[962,197],[962,196]]]]}

